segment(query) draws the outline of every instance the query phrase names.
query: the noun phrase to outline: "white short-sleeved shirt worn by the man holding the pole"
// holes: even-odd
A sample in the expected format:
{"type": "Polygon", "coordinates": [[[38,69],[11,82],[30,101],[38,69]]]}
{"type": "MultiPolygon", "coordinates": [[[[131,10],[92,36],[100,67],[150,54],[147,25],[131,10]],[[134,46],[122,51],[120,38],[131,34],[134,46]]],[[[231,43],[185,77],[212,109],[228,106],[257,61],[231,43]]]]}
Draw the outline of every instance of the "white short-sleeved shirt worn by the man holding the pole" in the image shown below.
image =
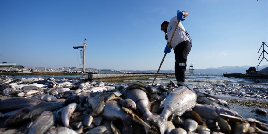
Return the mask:
{"type": "MultiPolygon", "coordinates": [[[[178,23],[178,20],[177,20],[177,16],[173,17],[170,19],[170,22],[168,24],[168,30],[167,30],[167,35],[168,35],[168,42],[170,42],[170,39],[172,37],[172,34],[175,30],[175,27],[178,23]]],[[[187,37],[186,33],[185,33],[185,29],[184,27],[182,26],[182,23],[180,21],[179,25],[178,25],[178,29],[176,30],[176,33],[174,34],[174,37],[172,39],[172,42],[170,44],[170,46],[172,47],[172,49],[174,50],[175,47],[183,42],[183,41],[190,41],[189,38],[187,37]]]]}

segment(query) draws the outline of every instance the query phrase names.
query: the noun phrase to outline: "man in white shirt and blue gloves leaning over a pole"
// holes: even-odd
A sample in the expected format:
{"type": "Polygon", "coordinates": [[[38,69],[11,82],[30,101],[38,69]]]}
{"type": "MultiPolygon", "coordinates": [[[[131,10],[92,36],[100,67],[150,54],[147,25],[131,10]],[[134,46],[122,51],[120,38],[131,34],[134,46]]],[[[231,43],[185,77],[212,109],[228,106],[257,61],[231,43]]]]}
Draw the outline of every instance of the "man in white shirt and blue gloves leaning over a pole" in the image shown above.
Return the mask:
{"type": "MultiPolygon", "coordinates": [[[[170,22],[164,21],[161,24],[161,30],[166,33],[166,40],[168,44],[170,43],[169,41],[171,40],[178,20],[183,21],[186,16],[188,16],[188,12],[178,10],[177,16],[171,18],[170,22]]],[[[185,84],[185,71],[187,66],[186,61],[192,46],[181,22],[179,23],[176,33],[174,34],[170,48],[168,48],[168,45],[166,45],[164,53],[169,53],[171,48],[173,48],[175,54],[176,61],[174,68],[177,84],[178,86],[182,86],[185,84]]]]}

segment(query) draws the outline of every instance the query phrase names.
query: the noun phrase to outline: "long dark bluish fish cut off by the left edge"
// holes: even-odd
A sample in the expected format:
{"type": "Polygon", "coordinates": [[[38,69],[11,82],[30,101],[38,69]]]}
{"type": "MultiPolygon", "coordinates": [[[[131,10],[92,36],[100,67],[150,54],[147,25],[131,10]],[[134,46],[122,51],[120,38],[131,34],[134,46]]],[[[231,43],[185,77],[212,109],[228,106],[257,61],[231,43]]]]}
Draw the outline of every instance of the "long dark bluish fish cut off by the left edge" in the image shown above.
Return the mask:
{"type": "Polygon", "coordinates": [[[34,99],[25,99],[25,98],[19,98],[19,97],[0,100],[0,111],[30,107],[30,106],[37,105],[41,102],[44,102],[44,101],[34,100],[34,99]]]}

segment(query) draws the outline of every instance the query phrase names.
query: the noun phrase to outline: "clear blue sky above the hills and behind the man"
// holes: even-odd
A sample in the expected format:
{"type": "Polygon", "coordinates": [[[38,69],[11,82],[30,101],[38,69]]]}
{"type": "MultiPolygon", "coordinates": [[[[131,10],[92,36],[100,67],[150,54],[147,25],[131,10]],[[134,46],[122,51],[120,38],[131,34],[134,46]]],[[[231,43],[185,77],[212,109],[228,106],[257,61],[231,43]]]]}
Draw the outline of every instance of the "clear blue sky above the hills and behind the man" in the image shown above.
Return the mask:
{"type": "MultiPolygon", "coordinates": [[[[182,22],[193,40],[188,67],[257,66],[267,7],[268,0],[0,0],[0,62],[81,67],[73,46],[87,38],[86,68],[157,70],[166,45],[160,25],[179,9],[189,12],[182,22]]],[[[174,63],[171,50],[161,70],[174,63]]]]}

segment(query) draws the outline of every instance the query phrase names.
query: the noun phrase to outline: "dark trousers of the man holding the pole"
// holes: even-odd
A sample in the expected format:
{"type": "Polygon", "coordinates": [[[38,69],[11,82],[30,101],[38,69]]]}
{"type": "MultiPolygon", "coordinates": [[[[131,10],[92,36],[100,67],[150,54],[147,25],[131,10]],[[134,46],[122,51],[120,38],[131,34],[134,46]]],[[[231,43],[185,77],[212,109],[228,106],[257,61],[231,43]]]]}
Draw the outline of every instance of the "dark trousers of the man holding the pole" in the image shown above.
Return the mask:
{"type": "Polygon", "coordinates": [[[189,52],[191,51],[190,41],[183,41],[178,44],[174,49],[175,54],[175,76],[177,80],[177,84],[183,85],[185,84],[185,71],[186,71],[186,61],[189,52]]]}

